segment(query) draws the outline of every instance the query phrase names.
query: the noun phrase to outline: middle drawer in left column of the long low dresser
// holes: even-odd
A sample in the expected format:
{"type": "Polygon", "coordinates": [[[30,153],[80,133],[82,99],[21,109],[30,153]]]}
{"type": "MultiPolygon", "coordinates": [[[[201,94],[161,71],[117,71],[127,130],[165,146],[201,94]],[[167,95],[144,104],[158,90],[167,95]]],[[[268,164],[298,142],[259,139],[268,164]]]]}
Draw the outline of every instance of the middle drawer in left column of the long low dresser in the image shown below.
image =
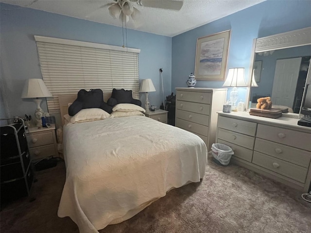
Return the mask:
{"type": "Polygon", "coordinates": [[[251,137],[242,133],[236,133],[219,128],[218,138],[250,150],[253,150],[254,148],[255,137],[251,137]]]}

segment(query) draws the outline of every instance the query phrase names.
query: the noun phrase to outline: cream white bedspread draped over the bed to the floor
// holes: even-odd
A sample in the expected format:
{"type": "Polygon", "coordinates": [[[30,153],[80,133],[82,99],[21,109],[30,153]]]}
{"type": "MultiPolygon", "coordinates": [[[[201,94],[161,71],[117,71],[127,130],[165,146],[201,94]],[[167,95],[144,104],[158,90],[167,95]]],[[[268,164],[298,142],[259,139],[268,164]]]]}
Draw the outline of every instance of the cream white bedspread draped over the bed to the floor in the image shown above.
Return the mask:
{"type": "Polygon", "coordinates": [[[201,138],[145,116],[66,126],[64,155],[58,216],[69,216],[80,233],[97,233],[170,189],[199,182],[207,163],[201,138]]]}

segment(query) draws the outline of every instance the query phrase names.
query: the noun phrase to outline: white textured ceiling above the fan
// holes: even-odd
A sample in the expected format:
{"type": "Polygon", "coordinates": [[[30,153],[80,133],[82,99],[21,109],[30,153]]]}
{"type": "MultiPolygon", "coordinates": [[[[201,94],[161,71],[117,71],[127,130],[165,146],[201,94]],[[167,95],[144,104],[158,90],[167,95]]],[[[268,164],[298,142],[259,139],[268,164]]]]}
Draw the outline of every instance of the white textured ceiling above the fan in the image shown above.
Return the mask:
{"type": "MultiPolygon", "coordinates": [[[[264,0],[184,0],[179,11],[135,4],[141,13],[139,20],[134,22],[130,19],[126,27],[148,33],[175,36],[262,1],[264,0]]],[[[122,26],[121,20],[109,15],[108,6],[103,7],[113,0],[0,0],[0,2],[122,26]]]]}

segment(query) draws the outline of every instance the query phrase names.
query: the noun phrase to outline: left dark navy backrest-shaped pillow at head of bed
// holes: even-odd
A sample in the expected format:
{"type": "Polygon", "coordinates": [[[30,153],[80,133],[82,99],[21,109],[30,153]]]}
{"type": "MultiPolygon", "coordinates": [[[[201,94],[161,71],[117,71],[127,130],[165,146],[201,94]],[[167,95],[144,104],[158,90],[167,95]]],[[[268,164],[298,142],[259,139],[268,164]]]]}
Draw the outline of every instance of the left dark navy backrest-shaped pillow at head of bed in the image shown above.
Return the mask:
{"type": "Polygon", "coordinates": [[[103,91],[101,89],[84,89],[78,92],[77,99],[69,106],[69,116],[76,115],[81,109],[101,108],[107,113],[112,113],[112,107],[104,102],[103,91]]]}

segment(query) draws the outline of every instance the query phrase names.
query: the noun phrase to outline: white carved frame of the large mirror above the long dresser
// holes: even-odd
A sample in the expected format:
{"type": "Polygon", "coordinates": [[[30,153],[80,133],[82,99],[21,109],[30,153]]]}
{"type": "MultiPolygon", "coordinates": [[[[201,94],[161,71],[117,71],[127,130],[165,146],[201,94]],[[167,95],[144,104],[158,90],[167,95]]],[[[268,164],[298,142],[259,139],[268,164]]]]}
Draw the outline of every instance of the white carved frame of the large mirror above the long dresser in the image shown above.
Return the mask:
{"type": "MultiPolygon", "coordinates": [[[[257,38],[253,40],[253,47],[251,53],[251,61],[249,65],[248,72],[248,82],[246,88],[246,105],[248,109],[248,103],[251,100],[251,81],[252,81],[252,73],[253,66],[255,62],[255,55],[257,52],[264,52],[270,50],[281,50],[292,47],[311,45],[311,27],[298,29],[286,33],[278,33],[275,35],[269,35],[261,38],[257,38]]],[[[311,63],[309,64],[308,74],[306,84],[311,83],[311,63]]],[[[305,96],[305,92],[303,93],[303,98],[305,96]]],[[[301,106],[300,106],[301,110],[301,106]]],[[[299,111],[300,112],[300,111],[299,111]]],[[[297,114],[294,114],[297,115],[297,114]]]]}

